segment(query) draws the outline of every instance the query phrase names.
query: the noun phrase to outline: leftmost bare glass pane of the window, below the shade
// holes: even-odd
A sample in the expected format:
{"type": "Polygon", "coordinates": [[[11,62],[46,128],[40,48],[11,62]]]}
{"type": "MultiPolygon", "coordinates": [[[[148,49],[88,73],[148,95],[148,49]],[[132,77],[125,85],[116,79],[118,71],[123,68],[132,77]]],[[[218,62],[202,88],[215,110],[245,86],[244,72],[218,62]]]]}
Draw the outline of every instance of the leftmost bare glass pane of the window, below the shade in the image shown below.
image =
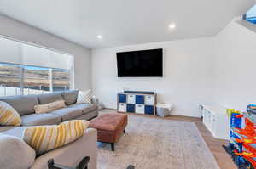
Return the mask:
{"type": "Polygon", "coordinates": [[[0,96],[20,94],[20,72],[19,65],[0,63],[0,96]]]}

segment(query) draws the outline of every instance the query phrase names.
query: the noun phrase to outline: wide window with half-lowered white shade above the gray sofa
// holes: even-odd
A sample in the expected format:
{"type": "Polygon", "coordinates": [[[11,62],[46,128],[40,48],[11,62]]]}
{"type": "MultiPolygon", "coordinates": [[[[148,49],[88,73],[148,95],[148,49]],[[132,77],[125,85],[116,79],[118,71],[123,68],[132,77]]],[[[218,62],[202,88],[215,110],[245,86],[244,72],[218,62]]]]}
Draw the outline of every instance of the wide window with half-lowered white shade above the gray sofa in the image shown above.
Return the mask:
{"type": "Polygon", "coordinates": [[[0,96],[51,93],[73,84],[73,55],[0,37],[0,96]]]}

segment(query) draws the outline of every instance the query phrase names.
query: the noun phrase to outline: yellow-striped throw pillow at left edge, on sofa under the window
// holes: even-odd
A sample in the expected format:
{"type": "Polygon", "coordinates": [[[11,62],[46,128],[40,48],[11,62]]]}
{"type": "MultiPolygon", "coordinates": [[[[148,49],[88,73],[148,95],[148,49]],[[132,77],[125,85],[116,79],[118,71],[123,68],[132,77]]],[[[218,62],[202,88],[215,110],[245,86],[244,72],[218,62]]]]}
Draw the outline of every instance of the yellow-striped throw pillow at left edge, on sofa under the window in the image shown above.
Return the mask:
{"type": "Polygon", "coordinates": [[[20,114],[9,104],[0,101],[0,125],[20,127],[20,114]]]}

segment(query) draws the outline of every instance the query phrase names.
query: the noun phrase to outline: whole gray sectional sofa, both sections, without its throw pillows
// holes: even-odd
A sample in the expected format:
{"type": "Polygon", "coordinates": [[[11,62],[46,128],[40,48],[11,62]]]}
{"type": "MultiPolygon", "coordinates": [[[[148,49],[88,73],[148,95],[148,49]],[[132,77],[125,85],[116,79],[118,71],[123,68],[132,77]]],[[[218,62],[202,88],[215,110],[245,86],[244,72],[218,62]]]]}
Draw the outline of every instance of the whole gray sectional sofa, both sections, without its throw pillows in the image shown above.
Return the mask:
{"type": "MultiPolygon", "coordinates": [[[[78,93],[79,91],[73,90],[58,93],[0,98],[0,101],[4,101],[13,106],[15,110],[20,114],[22,120],[21,127],[0,126],[0,136],[1,134],[5,134],[21,138],[22,132],[26,127],[55,125],[61,123],[62,121],[69,121],[74,119],[90,120],[96,117],[98,115],[98,111],[95,104],[76,104],[78,93]],[[35,113],[35,105],[49,104],[60,99],[65,100],[67,108],[54,110],[44,114],[35,113]]],[[[96,169],[96,137],[96,129],[87,129],[82,138],[79,138],[71,144],[67,144],[66,146],[63,146],[59,149],[51,150],[48,153],[37,157],[28,168],[47,169],[47,161],[51,158],[53,158],[56,163],[67,166],[75,166],[79,163],[79,161],[82,160],[84,156],[90,156],[89,168],[96,169]]],[[[3,140],[0,140],[0,143],[3,143],[3,140]]],[[[8,152],[8,149],[11,148],[6,149],[6,152],[8,152]]],[[[16,150],[19,151],[19,149],[16,150]]],[[[15,162],[11,161],[11,158],[7,159],[10,159],[10,161],[6,162],[11,162],[12,164],[15,162]]],[[[4,164],[0,165],[4,166],[4,164]]],[[[18,163],[17,168],[19,168],[18,163]]]]}

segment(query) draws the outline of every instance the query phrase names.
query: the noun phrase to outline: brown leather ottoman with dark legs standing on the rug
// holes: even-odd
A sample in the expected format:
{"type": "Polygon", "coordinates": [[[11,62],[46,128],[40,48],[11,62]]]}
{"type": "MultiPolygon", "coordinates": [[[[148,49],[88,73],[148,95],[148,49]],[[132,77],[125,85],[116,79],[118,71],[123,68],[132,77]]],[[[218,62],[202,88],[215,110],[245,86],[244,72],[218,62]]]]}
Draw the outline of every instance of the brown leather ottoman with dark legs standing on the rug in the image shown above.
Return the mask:
{"type": "Polygon", "coordinates": [[[98,142],[110,143],[114,151],[114,144],[119,141],[127,126],[127,115],[105,114],[90,121],[89,127],[96,128],[98,142]]]}

